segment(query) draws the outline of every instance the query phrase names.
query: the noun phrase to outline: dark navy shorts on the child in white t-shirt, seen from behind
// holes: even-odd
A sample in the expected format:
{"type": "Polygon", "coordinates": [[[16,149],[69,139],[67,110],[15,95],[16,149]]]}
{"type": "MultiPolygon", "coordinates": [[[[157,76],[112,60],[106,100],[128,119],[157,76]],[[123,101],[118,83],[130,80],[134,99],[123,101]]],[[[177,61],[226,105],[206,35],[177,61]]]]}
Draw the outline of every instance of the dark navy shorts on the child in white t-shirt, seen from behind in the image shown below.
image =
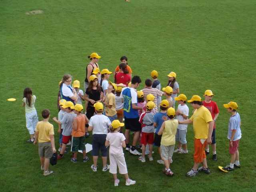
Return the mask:
{"type": "Polygon", "coordinates": [[[92,156],[108,156],[108,147],[105,146],[106,134],[93,134],[92,135],[92,156]]]}

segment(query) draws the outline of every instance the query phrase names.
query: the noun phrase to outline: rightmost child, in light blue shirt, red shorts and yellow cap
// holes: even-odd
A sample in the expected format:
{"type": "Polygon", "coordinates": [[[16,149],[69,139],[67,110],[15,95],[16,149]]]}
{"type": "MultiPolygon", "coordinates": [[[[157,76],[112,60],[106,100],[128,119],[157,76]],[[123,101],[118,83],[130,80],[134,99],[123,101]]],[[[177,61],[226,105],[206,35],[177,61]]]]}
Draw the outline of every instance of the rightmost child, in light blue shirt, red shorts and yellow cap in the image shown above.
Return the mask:
{"type": "Polygon", "coordinates": [[[223,106],[227,108],[229,113],[231,113],[231,117],[228,122],[229,153],[231,154],[231,162],[222,169],[226,171],[233,171],[234,167],[240,168],[238,144],[240,138],[242,138],[242,132],[240,129],[241,119],[238,112],[236,112],[236,109],[238,108],[236,102],[230,101],[228,104],[224,104],[223,106]]]}

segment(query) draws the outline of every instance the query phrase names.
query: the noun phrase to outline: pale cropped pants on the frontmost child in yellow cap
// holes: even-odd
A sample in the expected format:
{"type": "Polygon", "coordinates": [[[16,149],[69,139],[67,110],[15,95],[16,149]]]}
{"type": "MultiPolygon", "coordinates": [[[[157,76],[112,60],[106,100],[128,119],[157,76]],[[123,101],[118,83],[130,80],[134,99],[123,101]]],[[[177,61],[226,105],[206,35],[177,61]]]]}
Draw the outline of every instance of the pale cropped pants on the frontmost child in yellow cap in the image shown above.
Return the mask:
{"type": "Polygon", "coordinates": [[[109,153],[109,160],[110,160],[110,169],[109,169],[110,173],[116,174],[117,166],[120,174],[128,173],[124,154],[116,155],[116,154],[109,153]]]}

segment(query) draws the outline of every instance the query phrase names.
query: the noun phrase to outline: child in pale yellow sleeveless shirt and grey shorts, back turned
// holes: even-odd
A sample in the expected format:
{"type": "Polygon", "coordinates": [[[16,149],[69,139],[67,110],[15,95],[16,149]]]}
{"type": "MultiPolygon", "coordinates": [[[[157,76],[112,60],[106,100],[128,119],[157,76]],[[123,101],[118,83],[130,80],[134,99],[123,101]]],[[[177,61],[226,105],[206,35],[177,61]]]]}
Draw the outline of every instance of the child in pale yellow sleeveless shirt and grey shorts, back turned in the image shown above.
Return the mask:
{"type": "Polygon", "coordinates": [[[161,138],[161,157],[164,160],[165,170],[163,172],[166,175],[172,176],[174,173],[170,170],[170,163],[172,160],[172,155],[175,147],[175,135],[178,127],[178,120],[174,119],[175,110],[170,107],[167,110],[167,117],[164,118],[166,120],[163,122],[160,130],[158,131],[158,135],[162,134],[161,138]]]}

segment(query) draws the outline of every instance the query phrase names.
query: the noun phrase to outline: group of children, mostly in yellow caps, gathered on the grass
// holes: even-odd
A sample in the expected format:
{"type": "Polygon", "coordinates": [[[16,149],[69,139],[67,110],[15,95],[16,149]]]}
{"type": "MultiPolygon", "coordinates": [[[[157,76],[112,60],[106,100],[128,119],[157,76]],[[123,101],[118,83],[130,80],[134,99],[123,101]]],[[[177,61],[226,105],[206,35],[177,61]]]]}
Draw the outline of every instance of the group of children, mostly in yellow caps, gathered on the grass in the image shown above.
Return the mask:
{"type": "MultiPolygon", "coordinates": [[[[85,139],[92,131],[93,164],[91,168],[94,172],[98,170],[97,160],[101,150],[102,171],[110,170],[114,176],[114,186],[118,186],[119,183],[116,175],[117,166],[119,173],[124,174],[126,178],[126,185],[136,183],[128,177],[122,147],[131,154],[140,155],[139,160],[146,162],[146,154],[148,154],[148,160],[153,160],[153,145],[157,146],[161,157],[157,162],[165,165],[164,174],[172,176],[174,174],[170,170],[172,155],[174,152],[188,153],[186,146],[187,124],[193,123],[195,132],[194,166],[186,176],[195,176],[198,171],[210,173],[206,163],[206,155],[210,153],[208,144],[211,144],[212,159],[217,160],[215,121],[219,114],[217,104],[212,101],[212,96],[214,96],[212,91],[206,90],[204,101],[200,96],[193,96],[191,100],[188,100],[194,109],[191,118],[188,119],[187,98],[184,94],[177,96],[180,90],[176,81],[176,73],[170,72],[167,75],[168,84],[162,89],[164,91],[162,92],[160,90],[161,84],[157,79],[158,73],[153,70],[151,72],[153,81],[146,79],[144,89],[137,91],[136,89],[141,83],[140,77],[131,78],[131,70],[127,66],[127,64],[121,63],[119,72],[115,71],[116,83],[108,81],[112,73],[108,69],[99,72],[98,68],[94,68],[93,73],[95,73],[90,76],[85,94],[79,90],[80,82],[78,80],[73,82],[74,91],[79,97],[75,105],[64,99],[59,100],[58,120],[53,118],[59,125],[58,133],[60,134],[60,148],[58,150],[60,154],[57,158],[64,158],[68,148],[67,144],[71,141],[71,161],[78,162],[78,150],[82,150],[83,162],[87,162],[89,158],[86,156],[85,139]],[[101,80],[98,78],[99,74],[101,80]],[[163,94],[166,96],[165,100],[161,98],[163,94]],[[86,100],[86,115],[83,114],[82,100],[86,100]],[[174,104],[176,101],[178,108],[175,111],[174,104]],[[122,134],[124,126],[126,130],[122,134]],[[130,131],[134,133],[132,146],[130,146],[130,131]],[[176,141],[178,148],[174,150],[176,141]],[[108,146],[110,146],[109,154],[108,146]],[[136,147],[141,147],[142,153],[138,152],[136,147]],[[108,155],[110,165],[107,164],[108,155]],[[198,168],[201,162],[202,167],[198,168]]],[[[35,101],[36,96],[32,95],[31,89],[25,88],[22,106],[26,108],[26,126],[30,132],[30,140],[27,142],[37,144],[38,139],[41,169],[44,170],[46,176],[54,173],[48,170],[50,157],[53,152],[56,152],[54,131],[53,126],[48,122],[49,110],[42,111],[44,120],[38,122],[34,108],[35,101]]],[[[231,163],[223,168],[230,171],[234,170],[234,167],[240,167],[238,143],[241,138],[241,122],[240,116],[236,112],[238,106],[235,102],[224,104],[224,107],[232,114],[228,128],[231,163]]]]}

